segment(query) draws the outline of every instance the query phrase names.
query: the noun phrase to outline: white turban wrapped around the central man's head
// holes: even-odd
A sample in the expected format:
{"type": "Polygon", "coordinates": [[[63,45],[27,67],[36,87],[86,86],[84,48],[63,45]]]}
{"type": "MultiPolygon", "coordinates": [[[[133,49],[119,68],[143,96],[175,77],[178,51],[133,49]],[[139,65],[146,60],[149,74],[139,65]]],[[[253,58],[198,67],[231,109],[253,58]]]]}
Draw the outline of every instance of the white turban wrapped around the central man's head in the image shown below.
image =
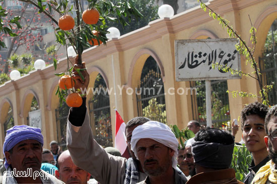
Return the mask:
{"type": "MultiPolygon", "coordinates": [[[[174,150],[172,157],[172,167],[177,168],[178,140],[169,126],[158,121],[149,121],[137,126],[132,132],[131,150],[137,157],[136,143],[143,138],[150,138],[174,150]]],[[[138,158],[138,157],[137,157],[138,158]]]]}

